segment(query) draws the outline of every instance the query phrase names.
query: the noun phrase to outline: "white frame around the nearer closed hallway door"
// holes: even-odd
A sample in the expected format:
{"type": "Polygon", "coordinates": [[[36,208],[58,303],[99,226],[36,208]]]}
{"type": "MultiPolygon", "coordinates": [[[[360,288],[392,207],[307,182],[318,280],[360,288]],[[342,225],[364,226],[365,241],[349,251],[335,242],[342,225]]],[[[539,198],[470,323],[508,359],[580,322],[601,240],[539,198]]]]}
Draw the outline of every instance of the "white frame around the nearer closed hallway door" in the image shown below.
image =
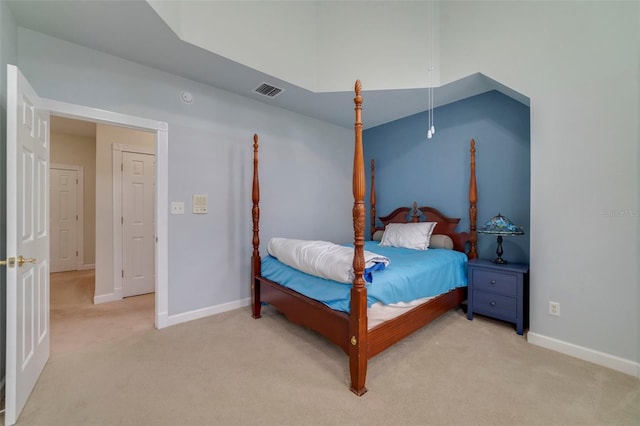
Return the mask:
{"type": "MultiPolygon", "coordinates": [[[[120,169],[123,152],[135,152],[138,154],[151,154],[155,156],[155,152],[152,149],[148,149],[144,146],[125,145],[119,143],[114,143],[111,146],[111,165],[113,169],[113,182],[111,185],[113,188],[113,297],[116,300],[122,300],[124,294],[124,289],[122,288],[122,170],[120,169]]],[[[158,177],[156,176],[156,180],[157,178],[158,177]]]]}

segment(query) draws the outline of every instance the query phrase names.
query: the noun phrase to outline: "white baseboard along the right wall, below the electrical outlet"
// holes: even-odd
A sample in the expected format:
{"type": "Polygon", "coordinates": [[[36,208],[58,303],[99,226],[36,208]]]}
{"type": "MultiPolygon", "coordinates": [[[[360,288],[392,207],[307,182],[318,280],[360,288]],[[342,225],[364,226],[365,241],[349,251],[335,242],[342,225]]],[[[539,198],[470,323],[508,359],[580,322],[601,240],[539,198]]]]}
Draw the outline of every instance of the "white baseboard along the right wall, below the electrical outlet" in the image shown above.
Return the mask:
{"type": "Polygon", "coordinates": [[[564,342],[542,334],[527,333],[527,341],[531,344],[551,349],[565,355],[572,356],[584,361],[589,361],[603,367],[611,368],[625,374],[640,378],[640,363],[615,355],[595,351],[573,343],[564,342]]]}

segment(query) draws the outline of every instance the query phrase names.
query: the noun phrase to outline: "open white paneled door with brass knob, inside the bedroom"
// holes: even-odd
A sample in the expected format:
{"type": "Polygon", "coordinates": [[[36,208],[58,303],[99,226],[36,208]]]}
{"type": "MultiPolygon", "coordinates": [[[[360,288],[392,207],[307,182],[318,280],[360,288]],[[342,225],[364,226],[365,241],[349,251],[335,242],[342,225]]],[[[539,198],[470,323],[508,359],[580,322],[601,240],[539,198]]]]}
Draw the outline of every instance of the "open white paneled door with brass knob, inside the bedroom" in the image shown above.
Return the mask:
{"type": "Polygon", "coordinates": [[[8,425],[49,358],[49,112],[39,104],[20,71],[7,65],[8,425]]]}

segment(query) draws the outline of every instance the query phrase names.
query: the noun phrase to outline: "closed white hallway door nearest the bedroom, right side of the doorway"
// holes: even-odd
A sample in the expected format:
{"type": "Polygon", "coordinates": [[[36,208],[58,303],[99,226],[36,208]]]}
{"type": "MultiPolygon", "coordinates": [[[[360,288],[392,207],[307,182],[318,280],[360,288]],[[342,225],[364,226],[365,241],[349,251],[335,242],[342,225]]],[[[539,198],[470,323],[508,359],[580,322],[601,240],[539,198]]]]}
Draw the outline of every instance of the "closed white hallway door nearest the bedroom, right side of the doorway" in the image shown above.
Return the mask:
{"type": "Polygon", "coordinates": [[[155,156],[122,153],[122,295],[155,291],[155,156]]]}

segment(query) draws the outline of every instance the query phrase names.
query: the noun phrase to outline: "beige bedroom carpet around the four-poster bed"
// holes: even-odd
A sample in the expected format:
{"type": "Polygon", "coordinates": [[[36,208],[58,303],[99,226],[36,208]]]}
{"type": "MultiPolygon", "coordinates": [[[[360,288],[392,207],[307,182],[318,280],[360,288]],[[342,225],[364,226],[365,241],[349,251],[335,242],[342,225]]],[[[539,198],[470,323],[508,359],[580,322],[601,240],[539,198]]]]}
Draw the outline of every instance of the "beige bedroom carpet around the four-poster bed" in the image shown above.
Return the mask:
{"type": "Polygon", "coordinates": [[[453,310],[370,361],[248,308],[53,353],[19,425],[634,425],[640,381],[453,310]]]}

